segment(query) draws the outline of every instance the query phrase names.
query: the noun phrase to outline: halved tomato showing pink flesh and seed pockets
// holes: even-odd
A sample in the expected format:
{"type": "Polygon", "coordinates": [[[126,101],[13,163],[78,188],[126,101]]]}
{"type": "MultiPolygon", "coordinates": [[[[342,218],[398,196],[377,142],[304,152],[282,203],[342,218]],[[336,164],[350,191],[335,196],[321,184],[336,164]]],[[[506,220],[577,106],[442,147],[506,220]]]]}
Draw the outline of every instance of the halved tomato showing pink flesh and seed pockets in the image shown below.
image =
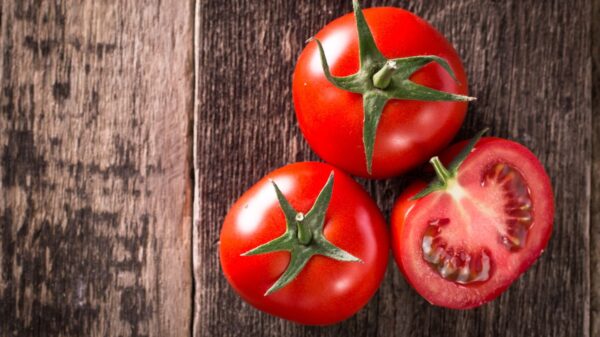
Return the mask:
{"type": "Polygon", "coordinates": [[[465,158],[449,169],[434,158],[437,180],[427,190],[423,182],[409,186],[392,212],[396,262],[434,305],[466,309],[496,298],[552,232],[552,187],[538,159],[509,140],[477,139],[442,155],[465,158]]]}

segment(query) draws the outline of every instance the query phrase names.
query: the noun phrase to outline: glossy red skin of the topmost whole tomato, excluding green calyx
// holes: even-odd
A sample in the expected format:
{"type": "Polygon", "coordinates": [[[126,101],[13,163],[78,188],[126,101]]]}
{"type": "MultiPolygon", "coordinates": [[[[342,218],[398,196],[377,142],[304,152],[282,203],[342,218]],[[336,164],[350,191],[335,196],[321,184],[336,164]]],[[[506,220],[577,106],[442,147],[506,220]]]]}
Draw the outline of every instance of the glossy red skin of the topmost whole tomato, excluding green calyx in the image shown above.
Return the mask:
{"type": "MultiPolygon", "coordinates": [[[[425,66],[411,80],[433,89],[467,94],[467,78],[458,54],[426,21],[398,8],[363,12],[385,57],[437,55],[448,61],[458,81],[437,64],[425,66]]],[[[352,14],[330,22],[315,38],[323,43],[333,75],[358,71],[358,37],[352,14]]],[[[425,162],[452,140],[467,108],[464,102],[388,101],[377,129],[369,175],[362,140],[362,96],[329,83],[316,43],[309,43],[300,55],[292,87],[298,123],[311,148],[334,166],[362,177],[391,177],[425,162]]]]}

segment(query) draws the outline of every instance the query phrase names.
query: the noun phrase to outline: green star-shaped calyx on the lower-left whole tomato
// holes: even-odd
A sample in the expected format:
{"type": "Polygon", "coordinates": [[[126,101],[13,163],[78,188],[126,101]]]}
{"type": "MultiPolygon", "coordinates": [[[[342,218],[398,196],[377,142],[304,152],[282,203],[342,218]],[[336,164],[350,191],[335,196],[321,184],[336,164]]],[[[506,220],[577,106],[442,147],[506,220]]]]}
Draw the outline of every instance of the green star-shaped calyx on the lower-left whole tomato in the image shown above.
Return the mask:
{"type": "Polygon", "coordinates": [[[285,272],[265,292],[265,296],[285,287],[304,269],[314,255],[323,255],[337,261],[361,262],[362,260],[329,242],[323,235],[325,214],[333,192],[333,171],[319,192],[308,213],[298,212],[285,198],[279,187],[271,181],[277,200],[286,220],[286,231],[278,238],[251,249],[242,256],[251,256],[278,251],[288,251],[290,262],[285,272]]]}

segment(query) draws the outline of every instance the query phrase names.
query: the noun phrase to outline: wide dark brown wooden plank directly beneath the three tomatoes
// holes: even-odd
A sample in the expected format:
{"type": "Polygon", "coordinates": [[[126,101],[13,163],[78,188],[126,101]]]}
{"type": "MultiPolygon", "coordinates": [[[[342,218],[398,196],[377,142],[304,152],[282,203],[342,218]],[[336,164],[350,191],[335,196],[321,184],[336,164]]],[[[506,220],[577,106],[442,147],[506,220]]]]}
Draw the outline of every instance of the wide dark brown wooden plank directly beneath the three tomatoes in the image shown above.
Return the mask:
{"type": "MultiPolygon", "coordinates": [[[[589,336],[591,2],[363,1],[407,8],[456,46],[471,105],[458,138],[485,126],[536,153],[555,189],[555,231],[541,259],[496,301],[435,308],[390,263],[373,300],[327,328],[254,310],[218,262],[228,207],[268,171],[315,160],[297,126],[291,75],[304,41],[350,1],[197,3],[195,336],[589,336]]],[[[597,167],[597,166],[596,166],[597,167]]],[[[407,178],[364,181],[386,216],[407,178]]]]}

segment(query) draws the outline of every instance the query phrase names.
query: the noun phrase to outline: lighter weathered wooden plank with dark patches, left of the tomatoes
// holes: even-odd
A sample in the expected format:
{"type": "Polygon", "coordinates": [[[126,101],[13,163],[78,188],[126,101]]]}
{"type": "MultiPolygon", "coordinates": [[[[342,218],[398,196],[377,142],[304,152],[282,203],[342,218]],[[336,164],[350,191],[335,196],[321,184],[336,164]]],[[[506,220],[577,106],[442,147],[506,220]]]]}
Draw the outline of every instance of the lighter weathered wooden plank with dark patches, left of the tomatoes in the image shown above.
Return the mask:
{"type": "Polygon", "coordinates": [[[0,335],[189,334],[193,1],[0,6],[0,335]]]}

